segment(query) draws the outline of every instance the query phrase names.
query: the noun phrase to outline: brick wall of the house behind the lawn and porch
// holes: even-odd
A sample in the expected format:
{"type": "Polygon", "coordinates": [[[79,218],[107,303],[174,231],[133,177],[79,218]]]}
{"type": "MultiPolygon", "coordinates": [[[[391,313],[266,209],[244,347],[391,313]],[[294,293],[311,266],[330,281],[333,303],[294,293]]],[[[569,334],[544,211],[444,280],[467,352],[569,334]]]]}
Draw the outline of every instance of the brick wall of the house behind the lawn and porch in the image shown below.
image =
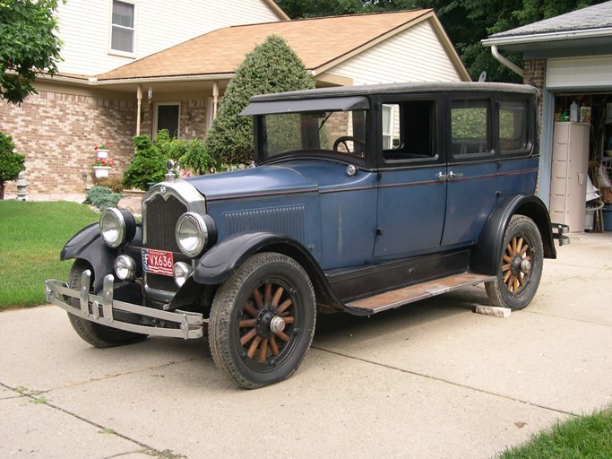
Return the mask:
{"type": "MultiPolygon", "coordinates": [[[[94,147],[105,143],[115,160],[110,178],[120,179],[134,156],[137,102],[110,100],[54,91],[39,91],[21,106],[2,102],[0,131],[13,136],[15,152],[25,155],[27,192],[34,194],[83,193],[95,181],[91,160],[94,147]]],[[[206,129],[205,100],[181,100],[181,137],[203,139],[206,129]]],[[[141,134],[151,135],[153,104],[142,101],[141,134]]],[[[6,184],[6,194],[16,191],[6,184]]]]}

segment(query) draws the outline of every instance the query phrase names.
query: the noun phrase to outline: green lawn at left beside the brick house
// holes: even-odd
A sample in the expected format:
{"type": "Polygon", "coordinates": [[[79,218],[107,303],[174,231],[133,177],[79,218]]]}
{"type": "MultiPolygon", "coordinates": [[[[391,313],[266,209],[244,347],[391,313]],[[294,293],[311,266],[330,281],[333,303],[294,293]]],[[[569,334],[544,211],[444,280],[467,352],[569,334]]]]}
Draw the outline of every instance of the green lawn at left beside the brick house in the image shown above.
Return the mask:
{"type": "Polygon", "coordinates": [[[0,201],[0,309],[45,303],[45,280],[65,280],[65,242],[99,215],[87,205],[0,201]]]}

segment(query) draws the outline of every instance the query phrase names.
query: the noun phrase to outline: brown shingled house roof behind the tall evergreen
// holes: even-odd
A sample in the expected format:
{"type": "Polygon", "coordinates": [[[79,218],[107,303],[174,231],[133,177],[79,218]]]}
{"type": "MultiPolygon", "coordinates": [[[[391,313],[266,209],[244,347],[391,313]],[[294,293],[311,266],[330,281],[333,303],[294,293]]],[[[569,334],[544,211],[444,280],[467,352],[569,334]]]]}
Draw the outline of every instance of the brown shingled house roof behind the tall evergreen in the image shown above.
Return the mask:
{"type": "Polygon", "coordinates": [[[98,80],[231,74],[272,34],[287,40],[306,68],[316,70],[431,13],[414,10],[227,27],[100,74],[98,80]]]}

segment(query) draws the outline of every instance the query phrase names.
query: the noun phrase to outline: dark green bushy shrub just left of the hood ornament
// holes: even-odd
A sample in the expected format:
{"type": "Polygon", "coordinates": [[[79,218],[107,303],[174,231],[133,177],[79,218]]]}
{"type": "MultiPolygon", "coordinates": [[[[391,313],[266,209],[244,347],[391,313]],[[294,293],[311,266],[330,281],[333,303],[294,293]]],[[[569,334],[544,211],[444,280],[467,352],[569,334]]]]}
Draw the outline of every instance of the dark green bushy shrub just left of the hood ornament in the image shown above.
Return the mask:
{"type": "Polygon", "coordinates": [[[166,174],[166,159],[146,135],[137,135],[132,141],[136,147],[136,154],[125,170],[121,184],[125,187],[146,191],[150,183],[164,180],[166,174]]]}

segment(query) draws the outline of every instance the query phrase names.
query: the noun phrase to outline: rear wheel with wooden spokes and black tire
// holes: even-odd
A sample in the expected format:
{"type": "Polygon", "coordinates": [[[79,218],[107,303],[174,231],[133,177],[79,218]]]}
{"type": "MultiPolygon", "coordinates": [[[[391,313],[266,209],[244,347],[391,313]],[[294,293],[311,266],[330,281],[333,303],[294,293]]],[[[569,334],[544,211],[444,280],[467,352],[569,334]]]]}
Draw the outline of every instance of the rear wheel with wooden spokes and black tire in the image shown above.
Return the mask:
{"type": "Polygon", "coordinates": [[[485,283],[489,301],[511,309],[527,307],[538,290],[544,262],[542,238],[529,217],[513,215],[498,256],[496,281],[485,283]]]}

